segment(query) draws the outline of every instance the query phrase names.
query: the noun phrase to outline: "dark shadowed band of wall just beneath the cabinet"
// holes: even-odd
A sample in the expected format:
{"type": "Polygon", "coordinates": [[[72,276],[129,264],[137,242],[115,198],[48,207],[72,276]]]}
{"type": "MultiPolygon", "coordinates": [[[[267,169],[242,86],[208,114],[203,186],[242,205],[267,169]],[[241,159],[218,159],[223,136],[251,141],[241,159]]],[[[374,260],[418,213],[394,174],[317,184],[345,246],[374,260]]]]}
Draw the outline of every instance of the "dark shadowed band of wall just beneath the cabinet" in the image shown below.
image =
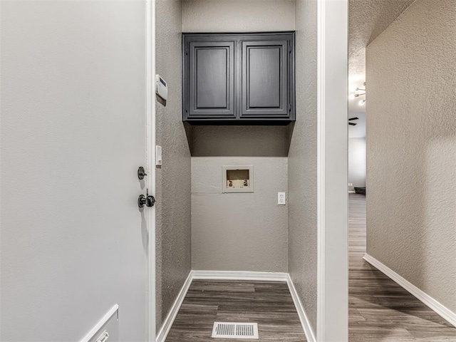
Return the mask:
{"type": "Polygon", "coordinates": [[[187,133],[192,157],[287,157],[289,126],[195,125],[187,133]]]}

